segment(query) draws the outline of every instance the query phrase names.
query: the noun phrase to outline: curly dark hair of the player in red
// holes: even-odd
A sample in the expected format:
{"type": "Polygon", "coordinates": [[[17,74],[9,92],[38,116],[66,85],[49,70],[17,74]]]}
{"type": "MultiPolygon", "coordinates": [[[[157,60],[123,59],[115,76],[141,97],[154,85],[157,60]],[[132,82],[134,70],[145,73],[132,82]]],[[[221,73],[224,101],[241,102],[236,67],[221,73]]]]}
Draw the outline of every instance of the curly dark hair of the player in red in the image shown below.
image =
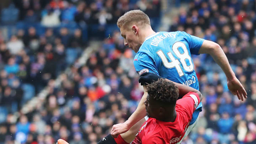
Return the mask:
{"type": "Polygon", "coordinates": [[[149,96],[153,96],[155,101],[175,104],[179,97],[178,87],[170,81],[159,79],[147,86],[149,96]]]}

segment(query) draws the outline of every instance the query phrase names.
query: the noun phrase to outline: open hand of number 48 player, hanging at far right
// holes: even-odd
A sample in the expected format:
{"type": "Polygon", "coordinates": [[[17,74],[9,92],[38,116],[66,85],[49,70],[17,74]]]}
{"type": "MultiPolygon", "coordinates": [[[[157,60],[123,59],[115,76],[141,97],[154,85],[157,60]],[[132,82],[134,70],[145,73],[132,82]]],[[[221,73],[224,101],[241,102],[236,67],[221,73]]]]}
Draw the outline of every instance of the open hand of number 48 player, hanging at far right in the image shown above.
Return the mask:
{"type": "Polygon", "coordinates": [[[228,89],[232,92],[233,95],[236,95],[239,100],[243,101],[244,98],[247,98],[247,93],[237,78],[228,80],[228,89]]]}

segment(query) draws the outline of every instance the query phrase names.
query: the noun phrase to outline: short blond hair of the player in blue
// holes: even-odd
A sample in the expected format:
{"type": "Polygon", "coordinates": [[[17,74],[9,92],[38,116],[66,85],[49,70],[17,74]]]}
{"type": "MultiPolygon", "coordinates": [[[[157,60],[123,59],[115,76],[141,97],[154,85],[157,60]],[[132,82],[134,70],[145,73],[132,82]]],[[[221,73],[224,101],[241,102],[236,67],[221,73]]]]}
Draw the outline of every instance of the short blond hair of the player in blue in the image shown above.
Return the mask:
{"type": "Polygon", "coordinates": [[[146,15],[141,10],[131,10],[126,12],[123,16],[119,17],[117,20],[117,26],[123,27],[135,23],[137,25],[150,25],[150,20],[148,15],[146,15]]]}

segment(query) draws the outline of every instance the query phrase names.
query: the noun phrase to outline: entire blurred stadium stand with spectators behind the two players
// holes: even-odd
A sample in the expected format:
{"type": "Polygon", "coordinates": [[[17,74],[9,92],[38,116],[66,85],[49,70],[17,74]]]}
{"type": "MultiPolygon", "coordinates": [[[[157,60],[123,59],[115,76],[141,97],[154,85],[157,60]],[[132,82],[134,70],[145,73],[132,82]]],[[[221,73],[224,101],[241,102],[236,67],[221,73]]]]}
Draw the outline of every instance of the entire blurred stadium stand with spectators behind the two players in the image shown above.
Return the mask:
{"type": "Polygon", "coordinates": [[[116,22],[133,9],[155,31],[217,42],[248,93],[193,56],[203,111],[182,144],[256,144],[255,0],[1,0],[0,144],[96,144],[126,121],[143,88],[116,22]]]}

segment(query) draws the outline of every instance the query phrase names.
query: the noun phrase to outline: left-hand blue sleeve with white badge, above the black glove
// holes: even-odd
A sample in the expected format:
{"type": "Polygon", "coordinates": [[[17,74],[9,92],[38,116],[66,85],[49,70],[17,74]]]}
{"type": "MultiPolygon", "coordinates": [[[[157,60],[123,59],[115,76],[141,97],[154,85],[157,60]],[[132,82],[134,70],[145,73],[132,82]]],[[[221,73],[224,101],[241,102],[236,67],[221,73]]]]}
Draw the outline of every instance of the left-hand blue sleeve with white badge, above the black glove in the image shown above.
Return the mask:
{"type": "Polygon", "coordinates": [[[159,75],[155,61],[146,53],[138,52],[134,57],[133,64],[139,75],[146,72],[159,75]]]}

